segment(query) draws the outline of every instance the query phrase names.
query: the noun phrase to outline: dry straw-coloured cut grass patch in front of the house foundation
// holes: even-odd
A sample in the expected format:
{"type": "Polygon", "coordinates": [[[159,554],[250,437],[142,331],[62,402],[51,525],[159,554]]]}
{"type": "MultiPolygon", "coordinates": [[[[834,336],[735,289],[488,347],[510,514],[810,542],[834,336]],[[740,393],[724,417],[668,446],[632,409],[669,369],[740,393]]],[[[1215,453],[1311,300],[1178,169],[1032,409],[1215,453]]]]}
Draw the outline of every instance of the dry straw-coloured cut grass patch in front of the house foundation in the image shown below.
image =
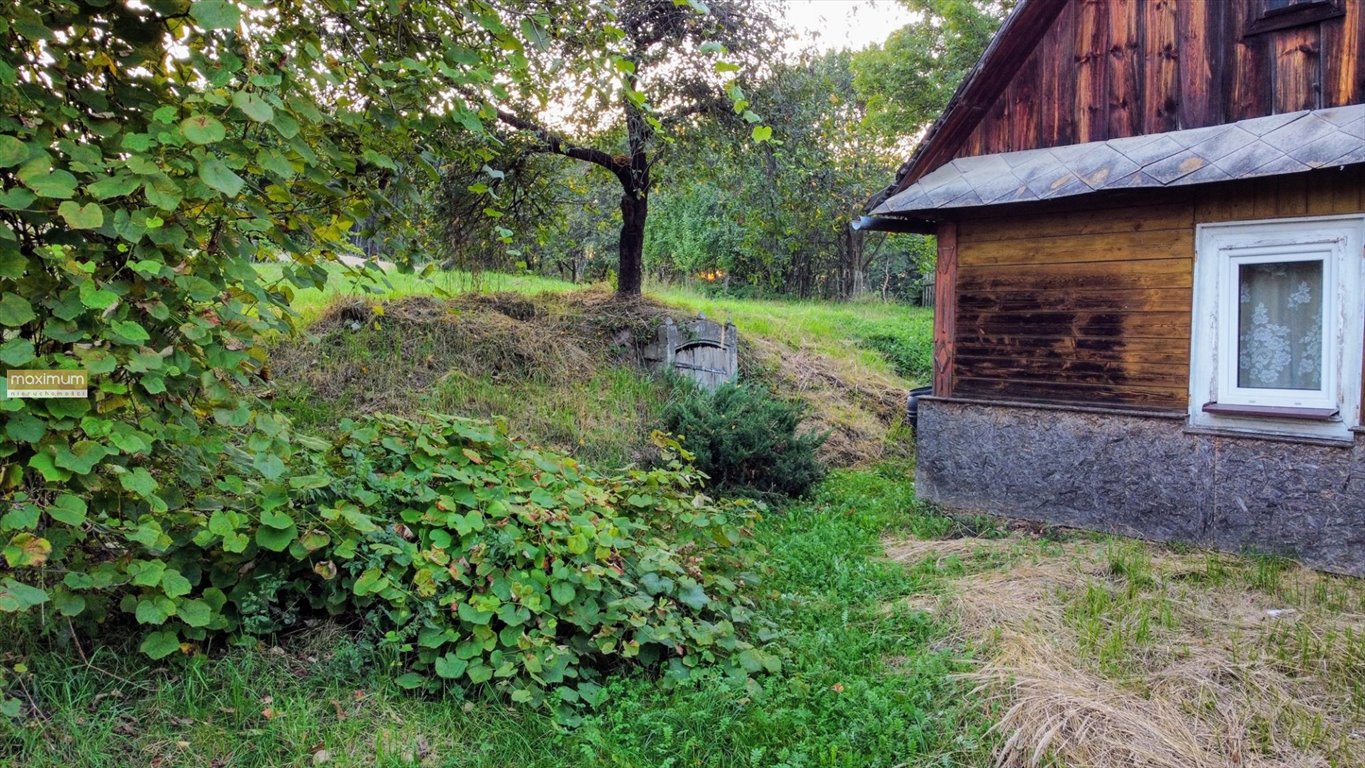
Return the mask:
{"type": "Polygon", "coordinates": [[[1005,767],[1365,763],[1365,582],[1130,540],[895,540],[956,572],[1005,767]]]}

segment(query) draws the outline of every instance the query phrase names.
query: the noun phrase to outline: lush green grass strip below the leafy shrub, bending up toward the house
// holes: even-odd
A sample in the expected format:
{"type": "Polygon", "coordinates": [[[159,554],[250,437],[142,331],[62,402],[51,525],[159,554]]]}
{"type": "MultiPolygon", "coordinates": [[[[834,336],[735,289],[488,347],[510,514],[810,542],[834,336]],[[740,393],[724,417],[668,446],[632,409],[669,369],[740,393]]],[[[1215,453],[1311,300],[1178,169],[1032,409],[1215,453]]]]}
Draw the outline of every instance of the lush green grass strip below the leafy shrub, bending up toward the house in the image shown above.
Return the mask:
{"type": "Polygon", "coordinates": [[[756,686],[621,677],[601,709],[562,727],[497,701],[403,692],[382,656],[328,625],[172,667],[117,649],[87,664],[74,648],[15,643],[0,663],[27,667],[22,696],[37,713],[0,719],[0,764],[983,765],[990,720],[957,677],[971,667],[946,649],[947,626],[906,604],[943,577],[880,557],[880,536],[946,531],[904,471],[837,472],[760,522],[756,597],[784,634],[782,670],[756,686]]]}

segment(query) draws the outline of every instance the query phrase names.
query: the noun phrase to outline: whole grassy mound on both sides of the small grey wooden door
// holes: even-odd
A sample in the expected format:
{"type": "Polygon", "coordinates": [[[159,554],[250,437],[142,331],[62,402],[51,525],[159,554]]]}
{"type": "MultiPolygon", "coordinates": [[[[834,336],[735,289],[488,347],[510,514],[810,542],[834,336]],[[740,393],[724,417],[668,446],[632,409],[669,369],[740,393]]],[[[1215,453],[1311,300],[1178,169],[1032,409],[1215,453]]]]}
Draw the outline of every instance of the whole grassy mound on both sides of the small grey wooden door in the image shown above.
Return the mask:
{"type": "Polygon", "coordinates": [[[273,394],[304,427],[373,412],[505,416],[532,442],[624,465],[651,456],[648,434],[674,396],[642,370],[639,342],[665,315],[704,310],[740,325],[744,379],[804,402],[801,431],[829,432],[824,462],[871,465],[909,450],[900,430],[910,386],[897,372],[902,364],[829,338],[848,322],[826,315],[849,314],[868,334],[910,333],[916,318],[891,322],[863,306],[666,300],[622,303],[605,289],[336,299],[306,338],[274,349],[273,394]]]}

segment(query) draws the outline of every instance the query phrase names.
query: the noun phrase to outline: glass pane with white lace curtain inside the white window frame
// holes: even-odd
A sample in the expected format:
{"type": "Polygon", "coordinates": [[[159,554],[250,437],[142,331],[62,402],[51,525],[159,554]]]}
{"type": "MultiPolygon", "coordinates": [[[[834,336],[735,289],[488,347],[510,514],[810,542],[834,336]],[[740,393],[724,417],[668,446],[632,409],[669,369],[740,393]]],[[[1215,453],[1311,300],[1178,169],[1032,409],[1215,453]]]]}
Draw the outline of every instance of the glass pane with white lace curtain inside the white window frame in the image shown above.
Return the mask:
{"type": "Polygon", "coordinates": [[[1238,269],[1237,386],[1323,387],[1323,262],[1238,269]]]}

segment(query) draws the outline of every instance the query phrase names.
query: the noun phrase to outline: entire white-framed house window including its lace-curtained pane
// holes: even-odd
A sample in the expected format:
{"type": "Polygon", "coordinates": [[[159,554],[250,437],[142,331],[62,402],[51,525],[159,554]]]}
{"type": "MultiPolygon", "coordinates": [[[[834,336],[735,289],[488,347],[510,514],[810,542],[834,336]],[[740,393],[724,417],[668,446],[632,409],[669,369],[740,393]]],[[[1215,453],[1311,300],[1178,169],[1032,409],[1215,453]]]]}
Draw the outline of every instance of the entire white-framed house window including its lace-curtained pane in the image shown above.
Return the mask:
{"type": "Polygon", "coordinates": [[[1190,422],[1347,438],[1360,424],[1365,217],[1201,225],[1190,422]]]}

